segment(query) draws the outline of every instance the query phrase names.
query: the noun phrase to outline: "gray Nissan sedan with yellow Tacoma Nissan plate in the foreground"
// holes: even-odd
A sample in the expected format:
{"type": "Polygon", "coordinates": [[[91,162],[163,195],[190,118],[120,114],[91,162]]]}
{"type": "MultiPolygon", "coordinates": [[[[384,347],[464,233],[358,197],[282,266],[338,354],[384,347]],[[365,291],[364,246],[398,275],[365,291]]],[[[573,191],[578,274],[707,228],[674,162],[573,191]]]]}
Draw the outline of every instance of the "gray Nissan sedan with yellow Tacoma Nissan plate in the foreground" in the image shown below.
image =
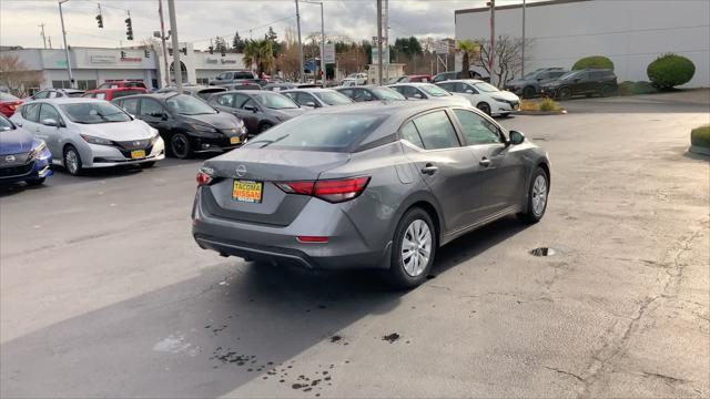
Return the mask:
{"type": "Polygon", "coordinates": [[[205,161],[193,235],[223,256],[306,268],[382,268],[398,287],[436,249],[509,214],[545,215],[547,153],[470,106],[323,108],[205,161]]]}

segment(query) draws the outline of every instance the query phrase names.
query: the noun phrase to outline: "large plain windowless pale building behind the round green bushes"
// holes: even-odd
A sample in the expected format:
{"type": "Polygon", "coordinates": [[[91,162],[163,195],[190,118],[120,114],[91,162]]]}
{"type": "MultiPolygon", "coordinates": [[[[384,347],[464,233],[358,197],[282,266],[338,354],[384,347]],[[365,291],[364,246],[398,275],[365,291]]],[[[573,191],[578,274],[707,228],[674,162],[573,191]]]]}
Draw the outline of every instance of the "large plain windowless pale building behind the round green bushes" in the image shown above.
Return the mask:
{"type": "MultiPolygon", "coordinates": [[[[496,35],[521,37],[521,4],[496,7],[496,35]]],[[[490,10],[455,12],[456,39],[490,37],[490,10]]],[[[606,55],[619,81],[648,81],[646,68],[673,52],[696,64],[686,86],[710,86],[710,1],[551,0],[528,2],[525,70],[571,68],[582,57],[606,55]]],[[[457,62],[460,69],[460,60],[457,62]]]]}

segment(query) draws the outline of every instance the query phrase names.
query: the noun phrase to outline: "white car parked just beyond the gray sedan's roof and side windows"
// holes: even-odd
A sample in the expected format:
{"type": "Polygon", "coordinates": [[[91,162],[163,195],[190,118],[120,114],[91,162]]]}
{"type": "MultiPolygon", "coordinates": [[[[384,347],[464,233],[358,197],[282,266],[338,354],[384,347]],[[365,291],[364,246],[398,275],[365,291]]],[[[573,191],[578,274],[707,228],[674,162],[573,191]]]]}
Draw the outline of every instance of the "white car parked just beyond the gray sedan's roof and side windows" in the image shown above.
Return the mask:
{"type": "Polygon", "coordinates": [[[520,109],[520,98],[476,79],[452,80],[436,85],[466,98],[471,105],[493,116],[508,116],[520,109]]]}

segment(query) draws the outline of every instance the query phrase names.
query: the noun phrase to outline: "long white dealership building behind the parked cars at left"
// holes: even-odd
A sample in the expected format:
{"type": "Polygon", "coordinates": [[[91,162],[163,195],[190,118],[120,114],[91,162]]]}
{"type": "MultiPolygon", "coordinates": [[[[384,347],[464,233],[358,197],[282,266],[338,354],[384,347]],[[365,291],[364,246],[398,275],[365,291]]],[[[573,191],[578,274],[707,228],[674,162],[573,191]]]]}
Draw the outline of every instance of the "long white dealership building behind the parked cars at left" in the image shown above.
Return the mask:
{"type": "MultiPolygon", "coordinates": [[[[217,74],[244,69],[243,54],[194,51],[191,43],[181,43],[186,54],[181,53],[183,82],[206,84],[217,74]]],[[[3,57],[18,57],[32,71],[41,72],[39,88],[26,88],[27,91],[47,88],[69,88],[67,55],[63,49],[20,49],[3,50],[3,57]]],[[[165,62],[162,48],[143,49],[103,49],[70,48],[69,60],[75,86],[82,90],[95,89],[106,80],[138,79],[149,86],[161,88],[165,83],[165,62]]],[[[171,76],[175,70],[172,57],[168,60],[171,76]]]]}

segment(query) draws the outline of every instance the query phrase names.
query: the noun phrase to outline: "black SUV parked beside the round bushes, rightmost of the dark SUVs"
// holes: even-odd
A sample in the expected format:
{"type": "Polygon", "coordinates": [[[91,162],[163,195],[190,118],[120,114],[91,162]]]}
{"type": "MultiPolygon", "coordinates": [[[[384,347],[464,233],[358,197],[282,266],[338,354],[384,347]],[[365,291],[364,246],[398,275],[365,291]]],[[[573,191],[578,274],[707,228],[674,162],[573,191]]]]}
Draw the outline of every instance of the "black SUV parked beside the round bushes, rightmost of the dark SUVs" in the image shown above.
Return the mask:
{"type": "Polygon", "coordinates": [[[612,70],[586,69],[571,71],[561,75],[558,80],[542,84],[542,95],[560,100],[568,100],[572,95],[599,94],[607,96],[617,91],[617,75],[612,70]]]}

